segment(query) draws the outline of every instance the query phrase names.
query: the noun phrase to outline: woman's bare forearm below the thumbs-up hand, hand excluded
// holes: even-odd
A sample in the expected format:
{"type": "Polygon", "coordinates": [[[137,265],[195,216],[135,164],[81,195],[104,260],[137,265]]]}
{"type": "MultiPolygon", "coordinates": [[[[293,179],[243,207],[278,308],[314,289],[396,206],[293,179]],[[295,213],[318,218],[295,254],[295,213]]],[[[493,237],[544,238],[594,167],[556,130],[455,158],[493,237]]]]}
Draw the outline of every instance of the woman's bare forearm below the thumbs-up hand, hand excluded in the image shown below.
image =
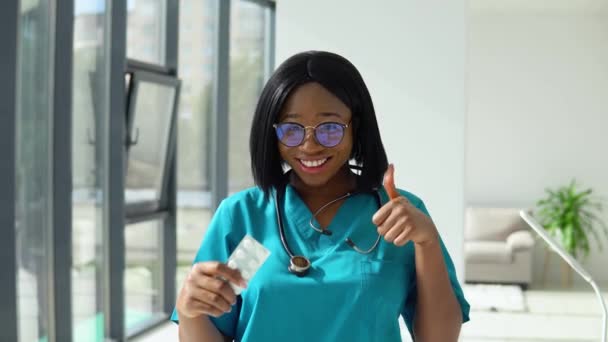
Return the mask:
{"type": "Polygon", "coordinates": [[[416,341],[458,341],[460,304],[450,284],[439,239],[415,245],[417,302],[416,341]]]}

